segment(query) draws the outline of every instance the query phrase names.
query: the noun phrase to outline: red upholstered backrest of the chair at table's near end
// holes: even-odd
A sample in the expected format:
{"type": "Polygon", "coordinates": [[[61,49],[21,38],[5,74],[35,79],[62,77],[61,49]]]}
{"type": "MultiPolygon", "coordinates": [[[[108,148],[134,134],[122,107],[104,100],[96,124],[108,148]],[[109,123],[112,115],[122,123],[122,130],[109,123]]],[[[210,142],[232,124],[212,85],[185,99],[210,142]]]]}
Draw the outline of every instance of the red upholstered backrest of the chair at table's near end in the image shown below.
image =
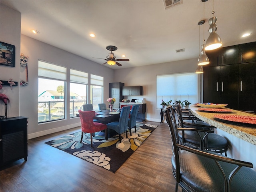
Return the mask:
{"type": "Polygon", "coordinates": [[[93,118],[95,117],[95,111],[82,111],[78,110],[82,132],[94,133],[93,118]]]}

